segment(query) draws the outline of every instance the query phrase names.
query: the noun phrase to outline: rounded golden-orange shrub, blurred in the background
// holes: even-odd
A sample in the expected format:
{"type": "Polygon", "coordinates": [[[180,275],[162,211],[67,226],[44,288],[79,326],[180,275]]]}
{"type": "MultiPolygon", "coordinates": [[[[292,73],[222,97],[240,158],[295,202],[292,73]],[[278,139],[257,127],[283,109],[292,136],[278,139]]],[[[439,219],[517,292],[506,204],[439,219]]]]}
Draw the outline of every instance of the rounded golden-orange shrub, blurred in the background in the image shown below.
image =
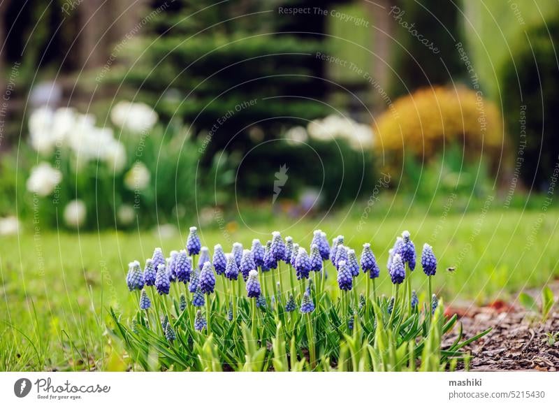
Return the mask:
{"type": "Polygon", "coordinates": [[[467,154],[483,151],[495,159],[504,142],[495,104],[465,87],[429,87],[402,97],[373,123],[373,129],[375,152],[389,165],[400,161],[404,151],[430,159],[449,143],[463,145],[467,154]]]}

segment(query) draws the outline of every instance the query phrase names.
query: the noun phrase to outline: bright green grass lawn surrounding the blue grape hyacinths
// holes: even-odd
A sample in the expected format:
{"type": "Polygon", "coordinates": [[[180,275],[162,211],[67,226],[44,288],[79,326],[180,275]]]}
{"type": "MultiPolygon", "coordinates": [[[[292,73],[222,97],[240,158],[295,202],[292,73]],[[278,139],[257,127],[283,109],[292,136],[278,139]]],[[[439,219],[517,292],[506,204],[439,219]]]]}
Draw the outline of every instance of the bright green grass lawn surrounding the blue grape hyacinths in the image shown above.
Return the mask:
{"type": "MultiPolygon", "coordinates": [[[[277,218],[274,224],[253,230],[238,227],[229,233],[203,229],[201,238],[210,248],[220,242],[230,249],[233,241],[249,245],[252,238],[269,238],[274,229],[292,235],[303,246],[310,244],[313,229],[343,234],[346,244],[361,253],[363,242],[372,242],[382,269],[379,290],[390,294],[386,275],[388,249],[396,235],[408,229],[418,254],[423,242],[433,245],[440,267],[434,289],[445,303],[495,298],[514,300],[525,287],[541,287],[559,275],[559,210],[481,211],[466,215],[414,215],[413,219],[369,219],[359,229],[359,219],[340,215],[293,222],[277,218]],[[260,234],[259,234],[260,233],[260,234]],[[453,273],[447,267],[456,267],[453,273]]],[[[113,370],[126,366],[122,350],[106,335],[107,309],[115,307],[127,317],[136,308],[136,296],[126,288],[127,264],[144,263],[160,246],[165,254],[184,247],[182,237],[161,239],[143,233],[57,233],[26,231],[2,238],[0,251],[0,370],[113,370]]],[[[328,269],[330,289],[335,270],[328,269]]],[[[286,275],[284,283],[289,280],[286,275]]],[[[421,267],[412,278],[426,288],[421,267]]],[[[360,277],[363,290],[364,277],[360,277]]],[[[222,285],[217,284],[218,289],[222,285]]],[[[425,294],[423,291],[421,295],[425,294]]]]}

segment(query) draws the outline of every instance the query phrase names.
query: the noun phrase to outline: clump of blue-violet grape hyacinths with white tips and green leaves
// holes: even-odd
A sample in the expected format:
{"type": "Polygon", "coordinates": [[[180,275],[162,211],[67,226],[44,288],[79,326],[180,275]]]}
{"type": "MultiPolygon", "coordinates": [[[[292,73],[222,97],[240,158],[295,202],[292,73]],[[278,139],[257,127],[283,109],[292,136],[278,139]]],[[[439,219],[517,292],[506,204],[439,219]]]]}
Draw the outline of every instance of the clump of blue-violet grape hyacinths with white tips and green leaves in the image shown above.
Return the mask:
{"type": "MultiPolygon", "coordinates": [[[[290,341],[293,340],[295,348],[308,351],[310,361],[305,362],[307,365],[312,365],[308,368],[314,368],[317,365],[315,344],[320,342],[319,348],[324,351],[323,360],[331,357],[330,359],[336,362],[336,354],[340,354],[340,347],[335,347],[333,344],[335,340],[328,337],[328,341],[324,342],[328,334],[332,333],[332,331],[327,333],[325,328],[343,326],[340,334],[351,335],[351,331],[358,326],[359,331],[364,333],[363,337],[367,337],[369,345],[376,350],[374,337],[372,340],[370,338],[371,334],[375,335],[379,326],[382,326],[384,331],[391,330],[392,335],[389,337],[392,338],[390,340],[396,340],[398,345],[404,344],[407,340],[410,342],[414,340],[414,345],[423,345],[429,337],[426,334],[430,334],[428,332],[433,326],[446,326],[449,323],[447,320],[446,324],[431,325],[434,320],[437,320],[437,317],[445,316],[443,312],[437,310],[439,298],[431,295],[431,278],[436,273],[437,259],[433,254],[433,248],[428,244],[423,245],[421,266],[425,275],[428,276],[429,295],[426,295],[426,298],[430,299],[430,303],[420,307],[418,293],[411,290],[409,286],[411,280],[407,272],[415,267],[416,254],[408,232],[402,233],[402,237],[396,239],[390,250],[387,268],[391,282],[393,282],[394,296],[389,300],[384,296],[379,298],[376,296],[375,280],[379,278],[380,269],[370,244],[363,245],[361,258],[358,259],[356,252],[344,245],[342,235],[338,235],[330,247],[326,235],[317,230],[313,233],[310,247],[309,255],[304,248],[293,241],[293,238],[287,237],[282,240],[281,235],[274,232],[273,238],[268,241],[266,248],[256,239],[253,240],[250,250],[243,250],[240,242],[236,242],[231,254],[225,254],[221,245],[215,245],[214,254],[210,260],[209,251],[201,247],[194,228],[189,234],[186,249],[171,251],[170,257],[166,260],[161,249],[155,249],[152,258],[147,259],[143,273],[137,261],[130,263],[129,271],[126,274],[126,284],[131,291],[138,291],[136,303],[141,310],[133,319],[135,339],[140,337],[149,341],[145,348],[159,348],[164,344],[161,341],[163,338],[168,342],[167,345],[172,347],[172,352],[169,354],[173,354],[172,357],[158,354],[159,360],[165,364],[166,368],[174,366],[180,370],[199,370],[201,367],[196,365],[196,359],[199,359],[201,354],[196,354],[196,351],[203,348],[204,336],[208,336],[208,340],[211,336],[212,340],[217,340],[218,343],[233,343],[231,344],[233,349],[225,349],[225,347],[229,347],[228,345],[222,349],[221,345],[215,346],[216,341],[213,342],[215,354],[223,353],[224,355],[219,355],[221,359],[216,362],[213,360],[212,365],[224,365],[231,361],[231,357],[238,355],[240,358],[235,358],[233,361],[242,366],[245,362],[243,348],[247,348],[246,343],[242,341],[249,339],[246,336],[247,332],[242,330],[245,328],[243,326],[249,327],[256,347],[266,345],[269,351],[284,351],[281,342],[274,343],[274,340],[277,339],[274,337],[274,331],[277,329],[277,331],[282,331],[284,337],[289,337],[284,342],[287,347],[292,345],[290,341]],[[200,254],[198,261],[196,261],[197,254],[200,254]],[[316,278],[310,278],[310,270],[326,271],[331,266],[330,263],[325,262],[327,259],[330,259],[336,267],[337,286],[341,292],[333,293],[331,287],[323,286],[324,279],[319,279],[321,274],[317,274],[316,278]],[[200,264],[200,272],[198,272],[198,266],[193,266],[193,261],[200,264]],[[291,266],[288,270],[279,268],[281,270],[279,273],[259,275],[259,270],[275,269],[281,265],[280,261],[289,263],[293,268],[291,266]],[[360,269],[363,270],[363,273],[368,274],[366,280],[363,281],[365,283],[358,282],[360,269]],[[238,278],[240,272],[243,274],[245,282],[238,278]],[[284,275],[285,272],[289,274],[284,275]],[[282,290],[285,285],[277,281],[278,275],[290,280],[289,290],[282,290]],[[302,280],[300,291],[294,288],[293,276],[295,275],[298,280],[302,280]],[[219,277],[223,278],[222,283],[217,284],[219,277]],[[226,279],[227,284],[223,283],[226,279]],[[175,280],[187,284],[190,293],[182,293],[184,286],[172,284],[175,280]],[[307,282],[306,287],[303,280],[307,282]],[[269,289],[270,282],[273,283],[274,289],[267,292],[263,288],[268,287],[269,289]],[[401,298],[398,288],[404,282],[407,290],[405,297],[401,298]],[[370,295],[369,283],[372,284],[372,295],[370,295]],[[242,295],[243,285],[245,285],[246,296],[242,295]],[[152,286],[159,295],[154,294],[155,290],[150,288],[152,286]],[[173,289],[170,289],[171,287],[173,289]],[[216,291],[216,287],[223,287],[225,291],[216,291]],[[171,291],[173,293],[170,295],[171,291]],[[354,294],[348,294],[348,291],[353,291],[351,293],[354,294]],[[210,295],[210,293],[215,293],[215,295],[210,295]],[[328,298],[331,293],[333,296],[328,298]],[[173,298],[173,295],[176,297],[173,298]],[[332,297],[337,298],[334,300],[332,297]],[[206,306],[205,311],[201,309],[204,305],[206,306]],[[269,311],[267,307],[270,309],[269,311]],[[256,312],[256,308],[259,308],[261,312],[256,312]],[[296,310],[299,311],[296,312],[296,310]],[[214,314],[222,316],[215,317],[214,314]],[[301,317],[305,317],[305,320],[302,321],[301,317]],[[212,321],[211,326],[210,320],[212,321]],[[159,321],[161,321],[161,328],[158,326],[159,321]],[[409,334],[410,326],[420,328],[414,327],[416,335],[410,336],[411,339],[404,338],[403,334],[409,334]],[[152,330],[152,333],[145,335],[144,328],[152,330]],[[401,328],[400,332],[398,332],[398,328],[401,328]],[[300,329],[305,329],[306,334],[300,329]],[[194,330],[203,332],[203,334],[195,334],[194,330]],[[155,341],[156,338],[159,341],[155,341]],[[301,338],[303,338],[302,341],[300,341],[301,338]],[[400,342],[402,339],[404,342],[400,342]],[[182,351],[184,345],[189,346],[188,351],[182,351]],[[305,348],[305,345],[308,347],[305,348]],[[198,357],[192,356],[192,351],[198,357]],[[224,351],[228,351],[226,355],[224,351]],[[181,358],[182,355],[184,358],[181,358]],[[177,360],[182,360],[184,365],[175,364],[177,360]]],[[[123,340],[125,342],[128,340],[128,345],[131,345],[133,340],[129,340],[128,326],[119,323],[119,319],[115,316],[113,320],[119,324],[120,329],[117,330],[117,333],[123,335],[123,340]]],[[[355,339],[355,335],[353,337],[355,339]]],[[[344,339],[342,335],[340,335],[340,339],[344,339]]],[[[357,340],[361,339],[357,338],[357,340]]],[[[435,345],[437,345],[436,342],[435,345]]],[[[454,350],[459,349],[455,347],[449,349],[449,352],[454,350]]],[[[404,353],[408,354],[408,351],[403,351],[402,354],[404,353]]],[[[135,357],[136,354],[139,354],[138,349],[132,349],[129,354],[135,357]]],[[[213,354],[214,351],[212,354],[205,353],[203,356],[212,357],[213,354]]],[[[267,358],[271,354],[268,354],[267,352],[265,355],[266,363],[271,365],[272,358],[267,358]]],[[[145,359],[147,359],[147,354],[145,355],[145,359]]],[[[419,357],[421,358],[421,354],[419,357]]],[[[281,353],[273,363],[274,368],[281,368],[281,365],[278,364],[280,359],[281,353]]],[[[138,362],[141,362],[141,359],[138,362]]],[[[319,365],[321,363],[324,361],[319,361],[319,365]]],[[[440,365],[443,363],[441,362],[440,365]]],[[[324,364],[321,368],[324,370],[324,364]]],[[[332,368],[332,365],[328,368],[332,368]]]]}

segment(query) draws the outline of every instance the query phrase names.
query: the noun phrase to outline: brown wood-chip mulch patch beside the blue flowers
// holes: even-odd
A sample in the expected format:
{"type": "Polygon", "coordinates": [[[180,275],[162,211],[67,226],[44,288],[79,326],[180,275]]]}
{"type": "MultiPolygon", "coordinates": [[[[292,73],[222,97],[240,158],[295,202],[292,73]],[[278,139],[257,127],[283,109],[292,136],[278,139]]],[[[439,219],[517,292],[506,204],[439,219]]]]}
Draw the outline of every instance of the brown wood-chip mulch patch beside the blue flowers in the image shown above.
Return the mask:
{"type": "MultiPolygon", "coordinates": [[[[557,297],[559,283],[551,288],[557,297]]],[[[558,371],[559,339],[558,342],[550,343],[546,335],[559,332],[557,307],[544,322],[518,306],[501,301],[484,307],[449,308],[447,314],[458,314],[465,338],[493,328],[483,338],[465,347],[473,356],[470,370],[558,371]]],[[[447,335],[445,345],[450,345],[456,339],[456,334],[447,335]]]]}

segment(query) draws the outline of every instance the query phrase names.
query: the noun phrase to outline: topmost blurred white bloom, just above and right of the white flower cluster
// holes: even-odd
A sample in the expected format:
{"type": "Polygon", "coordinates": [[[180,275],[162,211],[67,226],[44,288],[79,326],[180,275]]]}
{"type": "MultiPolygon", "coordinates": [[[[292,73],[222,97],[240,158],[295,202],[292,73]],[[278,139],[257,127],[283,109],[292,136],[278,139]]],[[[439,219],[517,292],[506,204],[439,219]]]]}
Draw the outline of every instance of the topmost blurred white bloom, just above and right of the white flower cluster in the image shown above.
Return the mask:
{"type": "Polygon", "coordinates": [[[116,126],[132,133],[143,133],[157,123],[157,113],[145,103],[119,101],[110,110],[110,119],[116,126]]]}

